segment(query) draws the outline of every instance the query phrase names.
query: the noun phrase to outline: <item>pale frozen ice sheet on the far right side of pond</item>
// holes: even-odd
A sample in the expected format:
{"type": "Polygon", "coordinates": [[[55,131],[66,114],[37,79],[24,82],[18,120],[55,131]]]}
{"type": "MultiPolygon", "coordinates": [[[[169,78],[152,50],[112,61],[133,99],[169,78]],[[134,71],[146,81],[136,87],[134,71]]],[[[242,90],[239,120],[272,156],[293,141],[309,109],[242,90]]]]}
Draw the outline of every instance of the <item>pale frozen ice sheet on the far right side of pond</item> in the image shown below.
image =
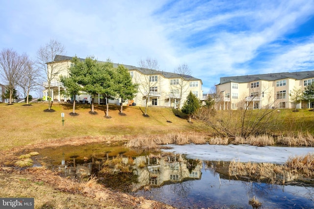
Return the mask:
{"type": "Polygon", "coordinates": [[[192,159],[202,159],[210,161],[240,161],[240,162],[269,162],[283,164],[288,157],[295,155],[306,155],[314,153],[313,147],[275,147],[265,146],[256,147],[250,145],[167,145],[171,150],[165,152],[174,152],[185,154],[192,159]]]}

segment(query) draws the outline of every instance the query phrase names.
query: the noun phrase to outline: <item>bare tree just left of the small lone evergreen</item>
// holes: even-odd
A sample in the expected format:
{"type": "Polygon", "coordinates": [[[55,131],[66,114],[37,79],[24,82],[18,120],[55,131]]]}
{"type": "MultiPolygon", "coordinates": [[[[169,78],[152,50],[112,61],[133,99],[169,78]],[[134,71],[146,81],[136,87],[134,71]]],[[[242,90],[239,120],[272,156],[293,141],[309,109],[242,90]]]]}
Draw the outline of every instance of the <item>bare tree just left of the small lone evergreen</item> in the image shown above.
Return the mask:
{"type": "Polygon", "coordinates": [[[179,78],[170,80],[170,87],[172,92],[177,95],[179,99],[178,111],[181,109],[182,96],[187,92],[189,82],[186,81],[186,77],[191,75],[191,71],[186,63],[179,65],[175,68],[174,72],[178,74],[179,78]],[[172,81],[172,83],[171,83],[172,81]]]}

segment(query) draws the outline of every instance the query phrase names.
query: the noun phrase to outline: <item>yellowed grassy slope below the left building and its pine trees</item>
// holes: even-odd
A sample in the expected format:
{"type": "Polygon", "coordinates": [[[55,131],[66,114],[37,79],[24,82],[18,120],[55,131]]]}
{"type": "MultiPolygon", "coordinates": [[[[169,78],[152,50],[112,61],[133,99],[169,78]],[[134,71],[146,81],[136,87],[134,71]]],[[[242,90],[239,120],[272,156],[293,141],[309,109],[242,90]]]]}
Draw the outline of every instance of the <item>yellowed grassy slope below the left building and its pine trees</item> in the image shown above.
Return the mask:
{"type": "Polygon", "coordinates": [[[49,141],[66,140],[67,137],[169,133],[174,131],[204,131],[206,126],[200,121],[188,123],[185,115],[177,117],[174,109],[149,107],[143,117],[144,107],[124,106],[125,116],[120,115],[119,106],[109,108],[105,118],[105,105],[96,105],[96,115],[89,114],[90,105],[78,104],[78,116],[71,116],[72,104],[52,105],[54,112],[44,112],[46,103],[0,104],[0,150],[49,141]],[[64,113],[62,125],[61,113],[64,113]],[[168,121],[168,122],[167,122],[168,121]],[[169,122],[170,121],[170,122],[169,122]]]}

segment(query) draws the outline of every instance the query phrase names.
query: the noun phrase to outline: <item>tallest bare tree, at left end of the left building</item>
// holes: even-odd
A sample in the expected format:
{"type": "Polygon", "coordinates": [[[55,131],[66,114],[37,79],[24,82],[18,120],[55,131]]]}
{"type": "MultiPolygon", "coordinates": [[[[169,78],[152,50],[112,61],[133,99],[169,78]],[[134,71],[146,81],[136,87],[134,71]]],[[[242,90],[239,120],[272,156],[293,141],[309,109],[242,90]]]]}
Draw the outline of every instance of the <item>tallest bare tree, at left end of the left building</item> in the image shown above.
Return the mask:
{"type": "Polygon", "coordinates": [[[50,40],[48,44],[41,47],[37,52],[37,67],[44,72],[47,79],[45,87],[48,90],[48,110],[51,110],[52,99],[51,98],[51,84],[56,78],[59,78],[59,73],[62,71],[62,67],[55,62],[56,55],[63,55],[65,53],[64,46],[56,41],[50,40]]]}

